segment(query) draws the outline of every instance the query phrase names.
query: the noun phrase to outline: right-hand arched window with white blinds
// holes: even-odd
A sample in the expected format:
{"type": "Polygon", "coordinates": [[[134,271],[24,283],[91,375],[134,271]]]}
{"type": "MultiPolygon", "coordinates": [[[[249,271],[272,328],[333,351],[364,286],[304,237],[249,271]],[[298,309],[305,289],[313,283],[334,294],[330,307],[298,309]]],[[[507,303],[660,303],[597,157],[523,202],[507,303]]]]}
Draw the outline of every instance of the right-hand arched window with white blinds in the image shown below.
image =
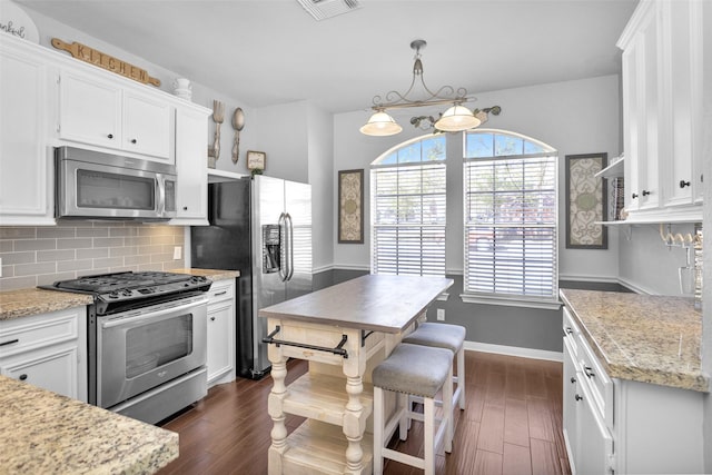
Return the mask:
{"type": "Polygon", "coordinates": [[[556,150],[501,130],[464,147],[463,299],[556,300],[556,150]]]}

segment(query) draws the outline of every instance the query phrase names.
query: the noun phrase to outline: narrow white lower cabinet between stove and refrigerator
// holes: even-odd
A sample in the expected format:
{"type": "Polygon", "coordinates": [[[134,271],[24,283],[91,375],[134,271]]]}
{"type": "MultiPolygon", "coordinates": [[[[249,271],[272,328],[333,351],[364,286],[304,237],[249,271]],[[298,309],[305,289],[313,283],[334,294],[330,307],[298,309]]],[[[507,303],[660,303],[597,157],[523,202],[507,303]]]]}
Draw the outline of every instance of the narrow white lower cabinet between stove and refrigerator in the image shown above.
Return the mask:
{"type": "Polygon", "coordinates": [[[212,284],[208,300],[208,386],[235,379],[235,280],[212,284]]]}

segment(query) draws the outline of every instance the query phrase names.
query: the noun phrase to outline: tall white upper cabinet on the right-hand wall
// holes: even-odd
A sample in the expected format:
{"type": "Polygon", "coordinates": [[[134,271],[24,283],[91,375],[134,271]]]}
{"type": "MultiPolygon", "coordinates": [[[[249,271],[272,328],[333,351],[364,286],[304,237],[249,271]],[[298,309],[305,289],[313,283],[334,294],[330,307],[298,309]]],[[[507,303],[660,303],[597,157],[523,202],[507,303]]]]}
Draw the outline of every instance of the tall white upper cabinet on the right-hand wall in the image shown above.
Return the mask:
{"type": "Polygon", "coordinates": [[[619,40],[631,221],[702,219],[702,8],[642,0],[619,40]]]}

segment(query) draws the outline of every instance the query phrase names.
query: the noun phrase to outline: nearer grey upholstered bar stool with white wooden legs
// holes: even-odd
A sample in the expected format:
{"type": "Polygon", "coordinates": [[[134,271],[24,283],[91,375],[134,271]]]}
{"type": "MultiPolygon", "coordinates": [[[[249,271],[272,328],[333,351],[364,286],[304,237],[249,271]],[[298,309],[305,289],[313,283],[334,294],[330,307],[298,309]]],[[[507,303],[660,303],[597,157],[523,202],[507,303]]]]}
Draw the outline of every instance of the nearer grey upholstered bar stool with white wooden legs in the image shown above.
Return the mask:
{"type": "Polygon", "coordinates": [[[374,384],[374,474],[383,474],[384,458],[435,473],[435,453],[441,445],[453,449],[453,354],[445,348],[399,344],[372,373],[374,384]],[[435,417],[435,396],[443,393],[443,416],[435,417]],[[396,393],[394,413],[385,419],[386,392],[396,393]],[[423,398],[423,414],[414,413],[408,396],[423,398]],[[405,420],[423,420],[424,457],[387,447],[396,427],[407,437],[405,420]],[[438,422],[437,428],[435,423],[438,422]]]}

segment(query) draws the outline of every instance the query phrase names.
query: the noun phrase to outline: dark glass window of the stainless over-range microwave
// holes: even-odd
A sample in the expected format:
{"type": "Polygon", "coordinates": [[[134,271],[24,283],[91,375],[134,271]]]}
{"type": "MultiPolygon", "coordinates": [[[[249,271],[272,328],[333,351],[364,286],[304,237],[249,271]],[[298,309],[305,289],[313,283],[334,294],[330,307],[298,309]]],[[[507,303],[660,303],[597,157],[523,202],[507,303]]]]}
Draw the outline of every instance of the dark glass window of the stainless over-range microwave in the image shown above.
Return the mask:
{"type": "Polygon", "coordinates": [[[80,208],[117,208],[152,210],[155,179],[77,170],[77,206],[80,208]]]}

